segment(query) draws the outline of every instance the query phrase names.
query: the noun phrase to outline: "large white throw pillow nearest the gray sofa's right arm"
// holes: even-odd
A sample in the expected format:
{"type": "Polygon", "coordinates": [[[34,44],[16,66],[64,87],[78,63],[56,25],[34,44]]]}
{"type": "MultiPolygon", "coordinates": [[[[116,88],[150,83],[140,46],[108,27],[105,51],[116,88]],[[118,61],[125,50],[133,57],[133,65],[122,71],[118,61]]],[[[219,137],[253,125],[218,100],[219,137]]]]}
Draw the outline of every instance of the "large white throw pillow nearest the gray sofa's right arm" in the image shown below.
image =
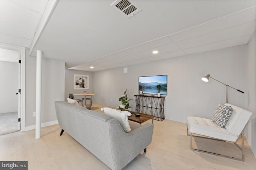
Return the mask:
{"type": "Polygon", "coordinates": [[[101,111],[104,111],[106,115],[109,115],[117,119],[118,123],[121,125],[121,127],[124,129],[126,133],[132,131],[128,121],[128,116],[131,115],[129,111],[121,111],[121,110],[111,109],[108,107],[101,108],[101,111]]]}

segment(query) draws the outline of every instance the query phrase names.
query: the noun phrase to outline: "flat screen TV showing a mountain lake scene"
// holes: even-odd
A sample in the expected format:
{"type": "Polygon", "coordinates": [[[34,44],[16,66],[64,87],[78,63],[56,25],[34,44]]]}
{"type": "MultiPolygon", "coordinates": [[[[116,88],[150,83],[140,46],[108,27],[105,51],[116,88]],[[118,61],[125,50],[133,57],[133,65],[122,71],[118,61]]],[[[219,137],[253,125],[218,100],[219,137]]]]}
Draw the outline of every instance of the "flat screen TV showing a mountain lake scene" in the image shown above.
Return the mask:
{"type": "Polygon", "coordinates": [[[139,91],[143,90],[143,94],[157,94],[158,84],[161,85],[160,94],[167,95],[167,75],[139,77],[139,91]]]}

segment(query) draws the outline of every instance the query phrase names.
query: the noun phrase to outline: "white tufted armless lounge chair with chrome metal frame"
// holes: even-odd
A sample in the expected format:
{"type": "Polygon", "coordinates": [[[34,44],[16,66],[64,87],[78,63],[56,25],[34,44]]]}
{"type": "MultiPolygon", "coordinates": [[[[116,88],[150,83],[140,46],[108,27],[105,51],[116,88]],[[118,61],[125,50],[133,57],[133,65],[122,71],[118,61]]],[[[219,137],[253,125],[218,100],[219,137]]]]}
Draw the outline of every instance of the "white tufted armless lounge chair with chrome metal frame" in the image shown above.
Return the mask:
{"type": "Polygon", "coordinates": [[[244,137],[242,133],[244,131],[244,128],[246,127],[246,124],[250,119],[250,116],[252,115],[252,112],[231,104],[225,104],[225,105],[232,107],[232,114],[228,119],[228,122],[226,123],[224,128],[214,123],[211,119],[206,119],[202,117],[192,117],[192,116],[187,117],[187,134],[189,130],[190,149],[244,161],[244,137]],[[242,150],[242,158],[241,159],[234,158],[232,156],[225,156],[225,155],[220,155],[217,153],[208,152],[204,150],[193,149],[192,148],[192,136],[194,136],[193,134],[203,135],[205,137],[215,138],[222,141],[229,141],[235,144],[238,141],[240,135],[242,134],[241,147],[239,147],[236,144],[236,146],[238,146],[242,150]]]}

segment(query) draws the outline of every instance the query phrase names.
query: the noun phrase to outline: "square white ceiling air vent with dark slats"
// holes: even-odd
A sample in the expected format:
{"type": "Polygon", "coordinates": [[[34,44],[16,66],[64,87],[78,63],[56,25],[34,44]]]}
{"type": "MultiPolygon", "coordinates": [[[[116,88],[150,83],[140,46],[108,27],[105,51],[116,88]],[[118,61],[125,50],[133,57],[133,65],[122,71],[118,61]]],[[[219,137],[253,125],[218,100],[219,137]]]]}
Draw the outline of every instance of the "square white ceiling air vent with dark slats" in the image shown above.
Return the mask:
{"type": "Polygon", "coordinates": [[[128,18],[141,11],[141,8],[138,5],[129,0],[116,0],[111,6],[116,8],[119,12],[122,12],[122,14],[128,18]]]}

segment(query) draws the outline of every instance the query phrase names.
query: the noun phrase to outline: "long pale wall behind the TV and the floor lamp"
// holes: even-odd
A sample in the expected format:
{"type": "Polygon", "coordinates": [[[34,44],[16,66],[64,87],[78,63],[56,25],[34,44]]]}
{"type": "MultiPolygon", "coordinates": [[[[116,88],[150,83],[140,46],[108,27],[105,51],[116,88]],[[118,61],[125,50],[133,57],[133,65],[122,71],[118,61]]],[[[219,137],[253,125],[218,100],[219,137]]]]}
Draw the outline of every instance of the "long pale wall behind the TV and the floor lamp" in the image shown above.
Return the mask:
{"type": "MultiPolygon", "coordinates": [[[[211,118],[220,103],[226,103],[226,86],[210,80],[201,80],[210,74],[213,78],[234,88],[246,91],[246,45],[199,54],[186,55],[162,61],[94,72],[94,102],[117,107],[124,90],[129,98],[138,94],[138,76],[168,74],[168,95],[165,100],[166,119],[186,122],[193,115],[211,118]],[[112,98],[112,101],[111,101],[112,98]]],[[[229,103],[246,106],[247,94],[229,89],[229,103]]],[[[135,101],[130,102],[132,109],[135,101]]]]}

